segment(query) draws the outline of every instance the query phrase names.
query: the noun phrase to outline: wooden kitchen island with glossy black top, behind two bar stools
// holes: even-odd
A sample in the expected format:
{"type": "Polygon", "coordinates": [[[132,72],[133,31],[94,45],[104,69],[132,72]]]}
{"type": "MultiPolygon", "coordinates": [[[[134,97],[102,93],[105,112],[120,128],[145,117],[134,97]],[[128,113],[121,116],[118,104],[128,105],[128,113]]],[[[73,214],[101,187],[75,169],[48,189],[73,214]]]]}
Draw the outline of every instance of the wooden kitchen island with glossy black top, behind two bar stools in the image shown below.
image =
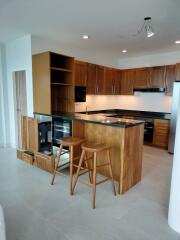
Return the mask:
{"type": "MultiPolygon", "coordinates": [[[[111,146],[111,158],[114,178],[119,183],[118,192],[125,193],[141,180],[144,122],[139,120],[113,118],[101,114],[57,113],[46,115],[34,113],[37,118],[51,116],[72,121],[72,136],[87,141],[104,143],[111,146]]],[[[81,149],[75,149],[75,157],[81,149]]],[[[99,163],[106,158],[103,153],[99,163]]],[[[99,169],[99,173],[108,176],[108,169],[99,169]]]]}

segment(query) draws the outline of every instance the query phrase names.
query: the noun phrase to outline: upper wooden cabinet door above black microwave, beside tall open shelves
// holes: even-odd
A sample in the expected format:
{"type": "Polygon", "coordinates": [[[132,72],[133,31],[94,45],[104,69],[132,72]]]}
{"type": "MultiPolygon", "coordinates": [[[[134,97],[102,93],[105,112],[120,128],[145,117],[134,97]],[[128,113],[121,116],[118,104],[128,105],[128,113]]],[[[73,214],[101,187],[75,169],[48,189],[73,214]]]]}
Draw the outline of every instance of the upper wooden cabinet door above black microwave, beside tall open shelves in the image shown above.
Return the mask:
{"type": "Polygon", "coordinates": [[[86,86],[87,82],[87,63],[75,61],[75,86],[86,86]]]}

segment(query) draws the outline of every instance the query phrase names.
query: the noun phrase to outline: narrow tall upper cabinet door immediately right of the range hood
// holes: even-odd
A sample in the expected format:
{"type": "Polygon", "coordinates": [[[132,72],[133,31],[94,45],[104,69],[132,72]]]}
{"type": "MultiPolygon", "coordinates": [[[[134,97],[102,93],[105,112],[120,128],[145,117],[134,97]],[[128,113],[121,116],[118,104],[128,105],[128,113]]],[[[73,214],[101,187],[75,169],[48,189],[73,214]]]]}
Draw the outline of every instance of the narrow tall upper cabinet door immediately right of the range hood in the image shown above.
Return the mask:
{"type": "Polygon", "coordinates": [[[166,95],[172,96],[173,93],[173,83],[176,79],[176,65],[167,65],[166,66],[166,95]]]}

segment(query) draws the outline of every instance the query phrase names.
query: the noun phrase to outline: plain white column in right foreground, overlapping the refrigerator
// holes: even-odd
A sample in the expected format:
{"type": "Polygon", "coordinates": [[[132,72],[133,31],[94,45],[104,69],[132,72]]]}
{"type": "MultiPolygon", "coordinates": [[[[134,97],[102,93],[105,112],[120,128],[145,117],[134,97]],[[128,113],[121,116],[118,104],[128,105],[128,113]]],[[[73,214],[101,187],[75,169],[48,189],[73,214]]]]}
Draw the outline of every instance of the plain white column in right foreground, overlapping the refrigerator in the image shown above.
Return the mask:
{"type": "Polygon", "coordinates": [[[176,139],[171,179],[168,223],[180,233],[180,93],[177,113],[176,139]]]}

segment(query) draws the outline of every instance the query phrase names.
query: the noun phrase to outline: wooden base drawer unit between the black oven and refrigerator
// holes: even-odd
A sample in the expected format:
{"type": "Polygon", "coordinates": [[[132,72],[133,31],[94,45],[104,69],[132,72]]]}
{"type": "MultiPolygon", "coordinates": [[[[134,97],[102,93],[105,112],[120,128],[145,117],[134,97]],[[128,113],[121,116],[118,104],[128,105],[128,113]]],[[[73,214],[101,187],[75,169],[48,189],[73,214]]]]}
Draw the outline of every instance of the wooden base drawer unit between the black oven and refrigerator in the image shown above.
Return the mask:
{"type": "Polygon", "coordinates": [[[168,148],[169,120],[154,120],[153,145],[168,148]]]}

